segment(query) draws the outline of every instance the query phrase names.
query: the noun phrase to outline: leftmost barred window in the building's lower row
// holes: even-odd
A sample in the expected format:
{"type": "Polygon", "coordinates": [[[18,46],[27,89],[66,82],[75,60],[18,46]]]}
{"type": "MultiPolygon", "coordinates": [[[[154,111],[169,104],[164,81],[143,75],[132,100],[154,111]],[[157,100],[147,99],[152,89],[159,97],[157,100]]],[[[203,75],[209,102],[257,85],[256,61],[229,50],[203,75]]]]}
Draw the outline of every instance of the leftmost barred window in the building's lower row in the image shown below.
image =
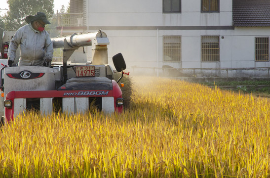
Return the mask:
{"type": "Polygon", "coordinates": [[[181,36],[163,37],[163,61],[181,61],[181,36]]]}

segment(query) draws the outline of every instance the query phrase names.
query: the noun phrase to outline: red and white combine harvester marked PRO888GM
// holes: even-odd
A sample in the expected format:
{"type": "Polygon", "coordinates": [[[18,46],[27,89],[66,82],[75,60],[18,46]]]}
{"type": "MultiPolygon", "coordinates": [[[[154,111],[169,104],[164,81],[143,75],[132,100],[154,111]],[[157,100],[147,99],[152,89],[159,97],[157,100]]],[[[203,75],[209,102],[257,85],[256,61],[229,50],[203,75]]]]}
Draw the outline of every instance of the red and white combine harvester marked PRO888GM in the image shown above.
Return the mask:
{"type": "MultiPolygon", "coordinates": [[[[54,48],[63,47],[63,63],[49,67],[1,68],[2,103],[5,122],[13,121],[26,110],[42,114],[53,110],[67,113],[87,112],[95,105],[105,113],[121,112],[122,91],[114,80],[108,64],[109,39],[104,32],[89,32],[52,38],[54,48]],[[81,46],[92,46],[92,61],[68,63],[70,56],[81,46]]],[[[117,72],[126,68],[121,53],[113,57],[117,72]]]]}

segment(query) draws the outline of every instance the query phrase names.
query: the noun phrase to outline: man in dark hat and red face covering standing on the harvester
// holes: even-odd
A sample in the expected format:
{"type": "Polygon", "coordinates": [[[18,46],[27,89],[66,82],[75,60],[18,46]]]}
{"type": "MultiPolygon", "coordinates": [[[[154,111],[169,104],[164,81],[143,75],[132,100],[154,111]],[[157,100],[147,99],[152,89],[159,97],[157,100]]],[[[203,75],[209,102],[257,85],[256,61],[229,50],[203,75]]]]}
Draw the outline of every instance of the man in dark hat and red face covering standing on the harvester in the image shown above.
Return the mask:
{"type": "Polygon", "coordinates": [[[46,24],[51,24],[45,13],[37,12],[25,18],[27,25],[21,27],[13,36],[8,48],[8,65],[11,67],[15,59],[18,46],[20,46],[20,59],[18,66],[43,66],[44,62],[51,62],[53,48],[46,24]]]}

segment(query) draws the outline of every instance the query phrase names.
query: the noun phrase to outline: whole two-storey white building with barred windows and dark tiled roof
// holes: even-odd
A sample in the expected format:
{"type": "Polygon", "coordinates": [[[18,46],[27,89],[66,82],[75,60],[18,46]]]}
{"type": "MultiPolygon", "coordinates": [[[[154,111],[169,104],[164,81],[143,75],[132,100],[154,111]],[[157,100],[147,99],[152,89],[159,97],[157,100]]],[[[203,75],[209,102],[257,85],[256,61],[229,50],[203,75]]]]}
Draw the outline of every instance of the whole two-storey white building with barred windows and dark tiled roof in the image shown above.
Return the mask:
{"type": "Polygon", "coordinates": [[[127,70],[170,66],[201,76],[269,75],[269,0],[71,0],[73,9],[80,9],[83,23],[63,30],[101,29],[110,40],[109,58],[121,52],[127,70]]]}

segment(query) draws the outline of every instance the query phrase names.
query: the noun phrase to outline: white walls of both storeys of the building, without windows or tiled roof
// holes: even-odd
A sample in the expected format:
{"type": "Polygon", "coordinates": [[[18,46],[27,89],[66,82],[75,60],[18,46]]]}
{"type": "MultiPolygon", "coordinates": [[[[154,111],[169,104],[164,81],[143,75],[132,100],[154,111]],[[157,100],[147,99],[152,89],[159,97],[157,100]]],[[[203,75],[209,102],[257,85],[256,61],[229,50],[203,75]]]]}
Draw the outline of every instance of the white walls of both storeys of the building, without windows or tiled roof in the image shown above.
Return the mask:
{"type": "MultiPolygon", "coordinates": [[[[182,0],[182,13],[162,13],[162,0],[89,0],[89,31],[103,30],[109,58],[121,52],[132,67],[270,67],[255,62],[255,37],[269,37],[268,27],[232,27],[232,0],[220,0],[220,13],[201,13],[200,0],[182,0]],[[229,27],[229,28],[228,28],[229,27]],[[220,36],[220,61],[201,62],[201,36],[220,36]],[[163,36],[181,36],[180,62],[163,61],[163,36]],[[224,38],[221,38],[224,37],[224,38]]],[[[91,56],[91,55],[89,55],[91,56]]],[[[112,64],[112,60],[109,59],[112,64]]],[[[142,72],[153,72],[142,69],[142,72]]],[[[230,75],[230,74],[229,74],[230,75]]],[[[237,75],[231,72],[231,75],[237,75]]],[[[245,75],[245,73],[241,73],[245,75]]]]}

